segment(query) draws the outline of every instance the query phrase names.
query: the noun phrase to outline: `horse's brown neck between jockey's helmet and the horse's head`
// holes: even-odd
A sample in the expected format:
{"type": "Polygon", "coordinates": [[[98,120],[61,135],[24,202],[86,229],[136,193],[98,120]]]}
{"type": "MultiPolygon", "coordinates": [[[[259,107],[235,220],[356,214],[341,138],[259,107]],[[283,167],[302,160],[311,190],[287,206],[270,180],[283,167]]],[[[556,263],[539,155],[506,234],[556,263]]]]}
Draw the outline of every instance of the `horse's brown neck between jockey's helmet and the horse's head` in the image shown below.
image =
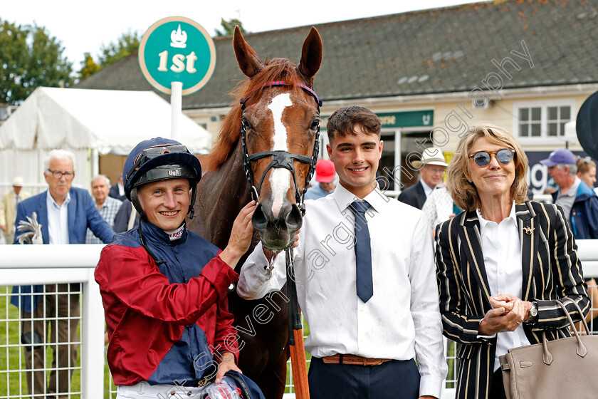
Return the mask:
{"type": "Polygon", "coordinates": [[[238,212],[250,200],[239,140],[223,165],[201,177],[196,202],[198,217],[192,221],[191,228],[222,249],[229,242],[238,212]]]}

